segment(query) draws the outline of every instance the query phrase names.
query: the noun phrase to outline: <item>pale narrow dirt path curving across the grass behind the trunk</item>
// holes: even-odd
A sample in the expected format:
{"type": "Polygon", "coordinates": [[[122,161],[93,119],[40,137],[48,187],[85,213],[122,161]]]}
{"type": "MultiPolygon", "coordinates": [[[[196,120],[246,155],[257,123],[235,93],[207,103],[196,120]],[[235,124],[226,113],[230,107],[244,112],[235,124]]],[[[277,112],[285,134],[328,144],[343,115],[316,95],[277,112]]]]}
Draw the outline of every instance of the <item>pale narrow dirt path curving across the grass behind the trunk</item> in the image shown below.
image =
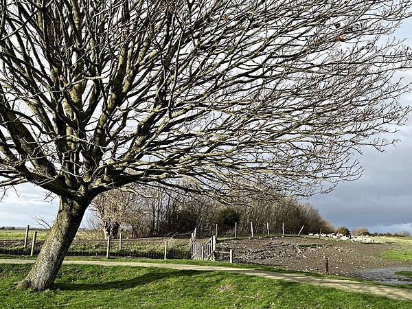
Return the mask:
{"type": "MultiPolygon", "coordinates": [[[[0,264],[32,264],[34,260],[19,260],[19,259],[1,259],[0,264]]],[[[176,270],[190,271],[221,271],[225,273],[238,273],[242,275],[252,275],[256,277],[264,277],[268,279],[283,280],[286,282],[297,282],[303,284],[312,284],[315,286],[324,286],[327,288],[338,288],[355,293],[366,293],[369,295],[378,295],[390,297],[393,299],[401,299],[412,301],[411,290],[405,288],[393,288],[391,286],[382,286],[374,284],[365,284],[350,280],[329,279],[321,277],[311,277],[308,275],[299,275],[293,273],[275,273],[272,271],[258,271],[254,269],[231,268],[222,266],[201,266],[187,264],[156,264],[142,262],[103,262],[103,261],[71,261],[65,260],[63,264],[81,264],[81,265],[99,265],[99,266],[133,266],[133,267],[155,267],[155,268],[171,268],[176,270]]]]}

